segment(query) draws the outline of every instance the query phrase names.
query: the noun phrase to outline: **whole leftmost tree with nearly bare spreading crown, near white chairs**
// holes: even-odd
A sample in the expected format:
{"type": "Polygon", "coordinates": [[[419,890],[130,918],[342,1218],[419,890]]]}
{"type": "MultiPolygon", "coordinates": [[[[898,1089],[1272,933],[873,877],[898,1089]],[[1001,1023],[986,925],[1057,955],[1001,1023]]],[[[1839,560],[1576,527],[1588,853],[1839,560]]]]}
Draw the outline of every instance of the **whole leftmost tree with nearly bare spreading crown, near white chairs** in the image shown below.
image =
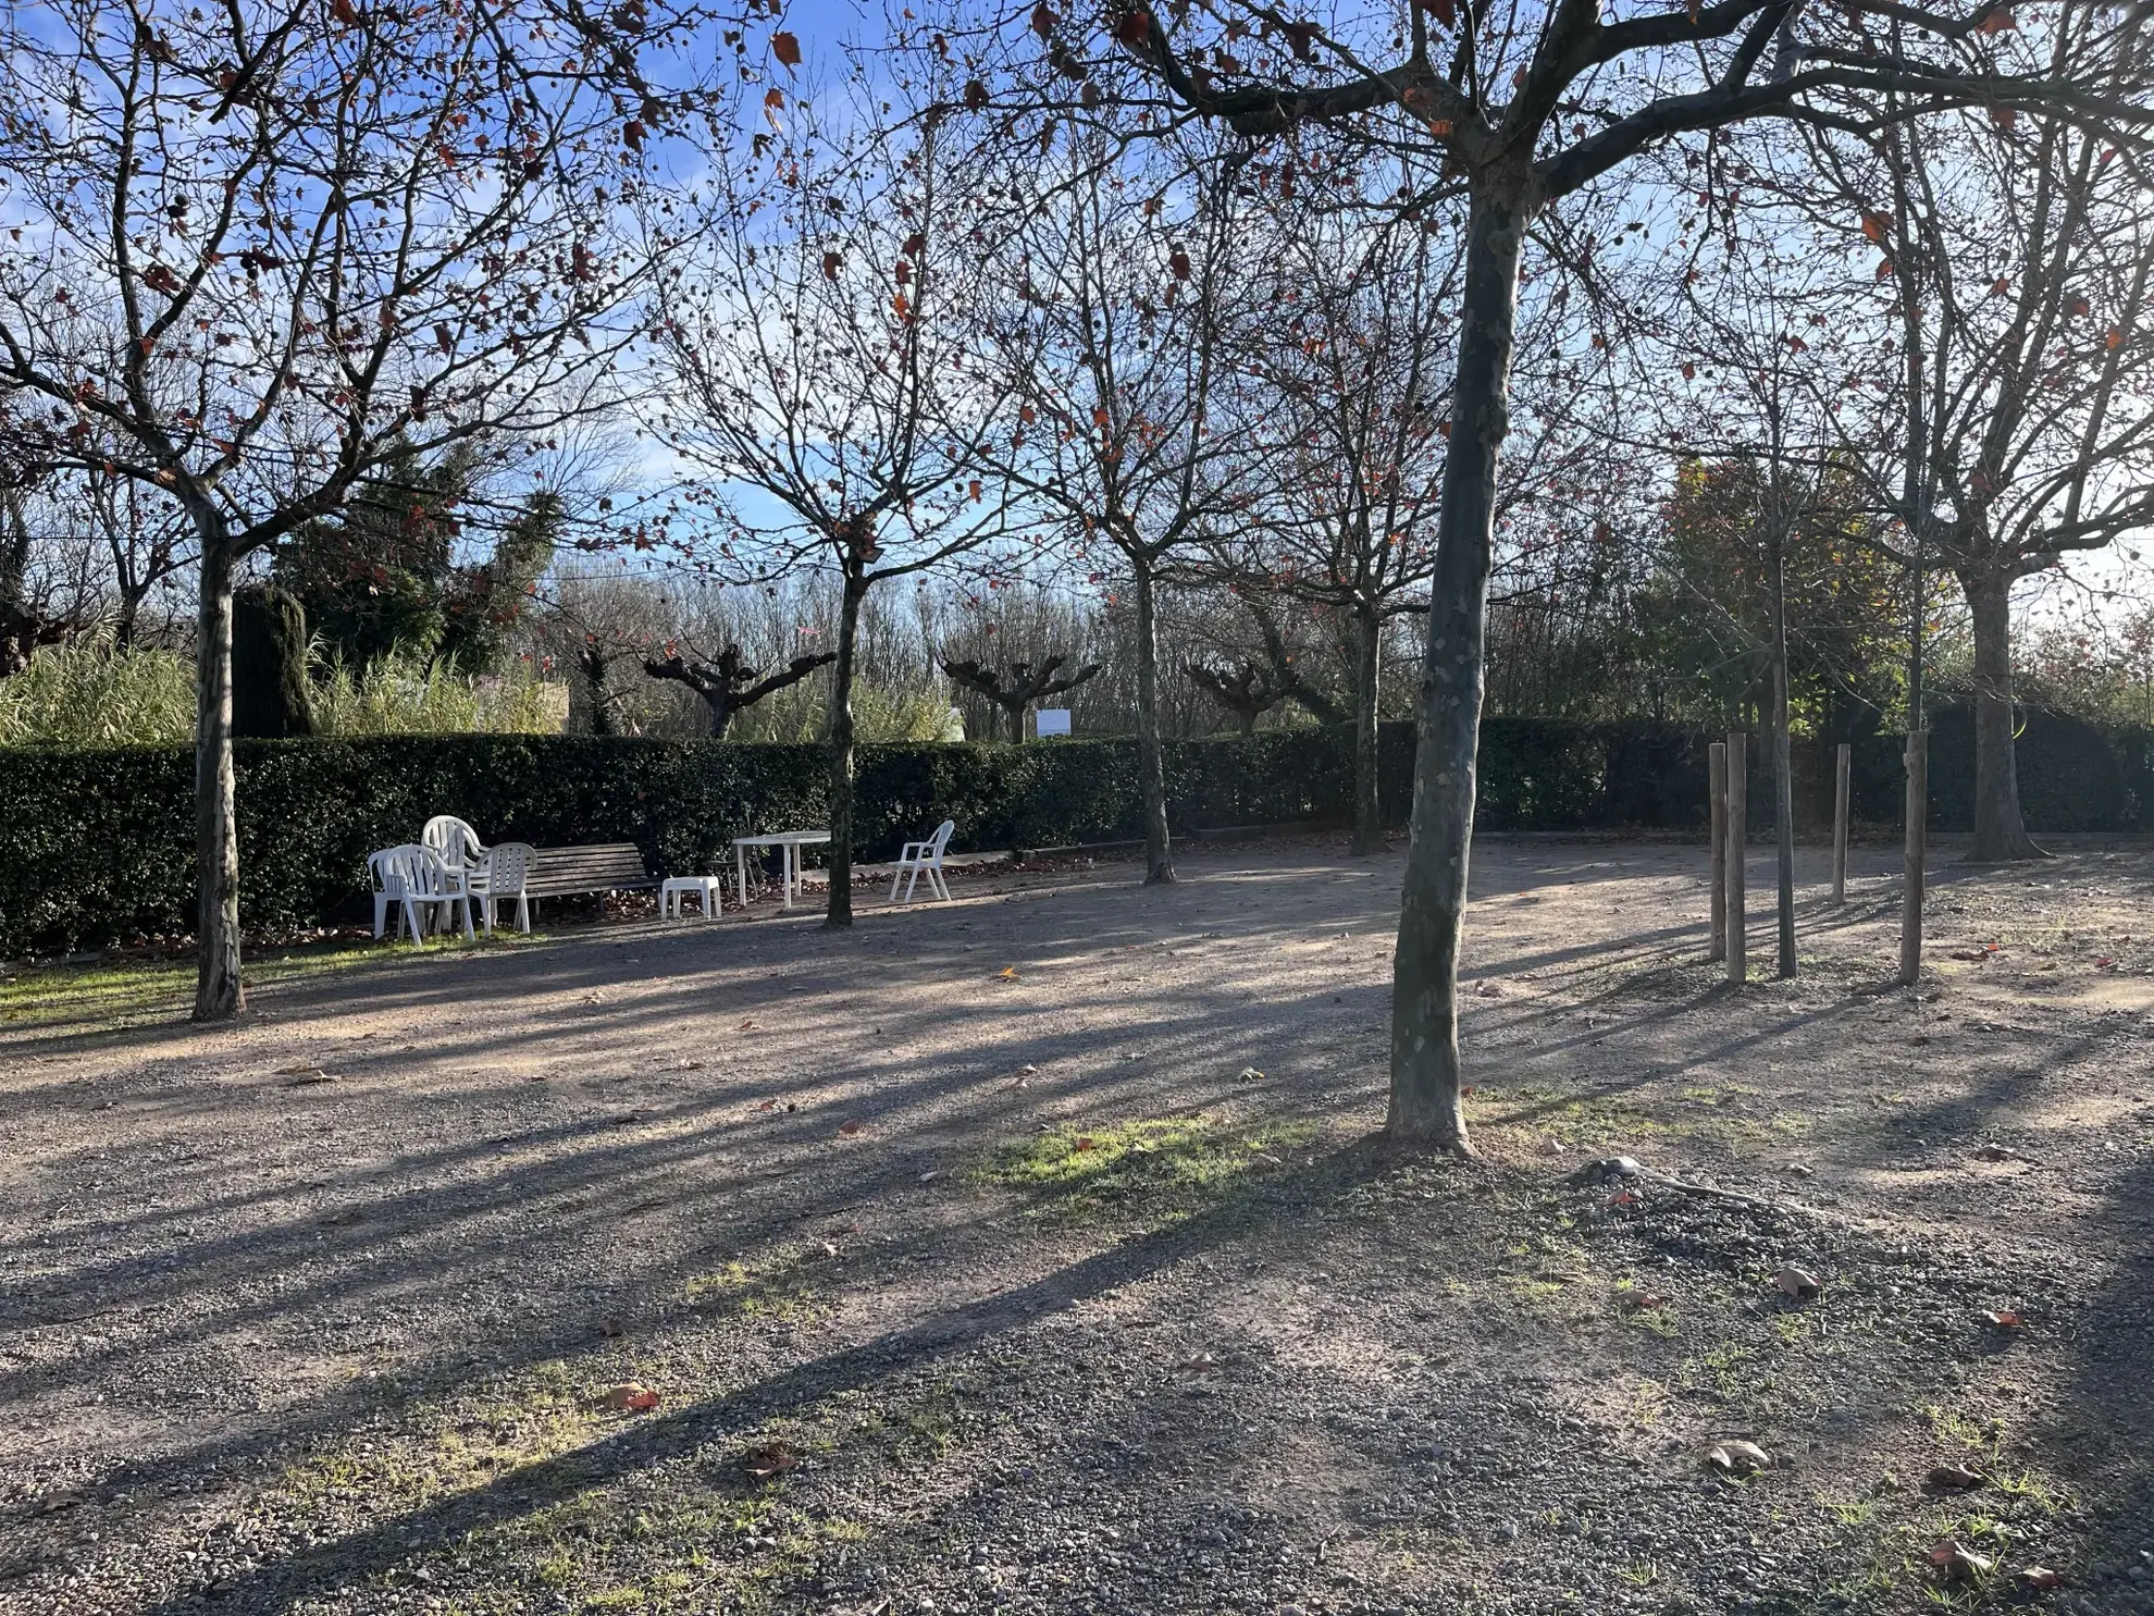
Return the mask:
{"type": "Polygon", "coordinates": [[[616,231],[698,19],[625,0],[39,0],[0,26],[0,461],[127,476],[198,549],[194,1015],[241,1008],[241,562],[388,457],[601,403],[663,243],[616,231]]]}

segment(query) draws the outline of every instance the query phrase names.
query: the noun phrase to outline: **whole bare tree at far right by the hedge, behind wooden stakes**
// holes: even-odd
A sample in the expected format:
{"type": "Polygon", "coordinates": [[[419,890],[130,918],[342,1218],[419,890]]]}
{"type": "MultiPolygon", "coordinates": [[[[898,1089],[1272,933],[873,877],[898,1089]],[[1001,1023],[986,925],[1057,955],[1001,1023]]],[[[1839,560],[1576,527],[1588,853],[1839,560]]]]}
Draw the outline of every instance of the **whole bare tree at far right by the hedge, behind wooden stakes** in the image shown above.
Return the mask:
{"type": "MultiPolygon", "coordinates": [[[[2132,93],[2145,41],[2089,69],[2104,28],[2094,11],[2059,13],[2051,71],[2132,93]]],[[[1911,575],[1949,573],[1973,627],[1967,858],[2040,858],[2012,746],[2012,588],[2154,519],[2141,155],[2070,103],[2008,97],[1861,140],[1820,131],[1814,151],[1816,224],[1874,248],[1861,261],[1876,291],[1844,302],[1880,386],[1868,409],[1842,412],[1848,442],[1898,521],[1893,554],[1911,575]]],[[[1921,674],[1911,683],[1919,692],[1921,674]]]]}

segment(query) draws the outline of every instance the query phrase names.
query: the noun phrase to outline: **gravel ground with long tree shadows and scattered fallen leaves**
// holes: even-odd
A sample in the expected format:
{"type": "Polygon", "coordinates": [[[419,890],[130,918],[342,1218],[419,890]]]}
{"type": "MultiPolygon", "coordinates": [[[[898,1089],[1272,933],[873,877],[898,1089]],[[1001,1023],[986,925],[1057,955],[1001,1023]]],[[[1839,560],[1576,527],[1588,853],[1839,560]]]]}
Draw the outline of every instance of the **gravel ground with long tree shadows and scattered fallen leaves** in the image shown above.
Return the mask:
{"type": "Polygon", "coordinates": [[[0,1612],[2154,1614],[2150,849],[1941,864],[1915,993],[1891,866],[1732,991],[1697,849],[1486,840],[1471,1164],[1329,838],[47,998],[0,1612]]]}

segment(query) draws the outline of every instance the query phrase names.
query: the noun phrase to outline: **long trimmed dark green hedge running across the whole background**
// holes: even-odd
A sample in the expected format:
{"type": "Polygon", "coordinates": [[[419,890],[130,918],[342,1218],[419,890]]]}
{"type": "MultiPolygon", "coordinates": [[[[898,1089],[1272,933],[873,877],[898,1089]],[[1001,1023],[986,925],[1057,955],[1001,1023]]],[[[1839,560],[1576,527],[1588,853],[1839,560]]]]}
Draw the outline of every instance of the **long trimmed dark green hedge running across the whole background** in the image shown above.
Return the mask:
{"type": "MultiPolygon", "coordinates": [[[[1824,748],[1796,758],[1796,817],[1829,808],[1824,748]]],[[[1411,802],[1413,730],[1385,724],[1385,819],[1411,802]]],[[[1771,825],[1771,780],[1751,748],[1751,825],[1771,825]]],[[[241,916],[312,927],[362,909],[366,853],[452,812],[487,840],[536,847],[627,840],[661,875],[715,870],[735,836],[825,817],[823,752],[620,737],[457,735],[241,741],[241,916]]],[[[1898,741],[1857,746],[1855,814],[1898,819],[1898,741]]],[[[1936,823],[1971,821],[1973,737],[1945,713],[1932,741],[1936,823]]],[[[2154,827],[2154,733],[2029,722],[2020,784],[2038,830],[2154,827]]],[[[1689,827],[1704,819],[1702,730],[1626,722],[1488,720],[1486,830],[1689,827]]],[[[1167,748],[1178,832],[1351,817],[1346,730],[1273,730],[1167,748]]],[[[0,957],[183,933],[194,909],[194,758],[174,748],[0,750],[0,957]]],[[[1045,746],[868,746],[859,855],[896,853],[941,819],[954,847],[1062,847],[1142,834],[1129,739],[1045,746]]]]}

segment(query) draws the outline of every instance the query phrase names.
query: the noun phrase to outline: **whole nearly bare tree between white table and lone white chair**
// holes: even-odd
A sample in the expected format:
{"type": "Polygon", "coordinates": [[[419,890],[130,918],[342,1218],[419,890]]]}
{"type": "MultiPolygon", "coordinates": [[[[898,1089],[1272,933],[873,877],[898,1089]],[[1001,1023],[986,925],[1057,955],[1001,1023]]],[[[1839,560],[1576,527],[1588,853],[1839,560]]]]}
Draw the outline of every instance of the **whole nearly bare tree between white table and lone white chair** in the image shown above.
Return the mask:
{"type": "Polygon", "coordinates": [[[691,203],[659,297],[670,388],[653,427],[700,478],[704,517],[670,524],[685,565],[838,575],[825,924],[849,927],[862,605],[1006,534],[984,450],[1008,384],[978,358],[982,198],[939,121],[855,108],[825,134],[769,95],[778,129],[715,153],[691,203]]]}

